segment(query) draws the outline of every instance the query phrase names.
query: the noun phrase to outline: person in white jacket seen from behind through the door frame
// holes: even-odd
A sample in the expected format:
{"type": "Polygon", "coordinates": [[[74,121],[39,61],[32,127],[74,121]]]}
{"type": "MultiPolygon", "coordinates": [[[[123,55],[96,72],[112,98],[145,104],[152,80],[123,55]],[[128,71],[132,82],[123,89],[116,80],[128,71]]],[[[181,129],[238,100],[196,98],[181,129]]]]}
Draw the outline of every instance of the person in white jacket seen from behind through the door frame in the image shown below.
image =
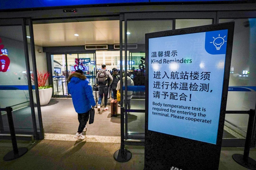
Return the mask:
{"type": "MultiPolygon", "coordinates": [[[[125,77],[123,76],[123,86],[125,85],[125,77]]],[[[120,80],[117,83],[117,87],[116,90],[120,90],[120,80]]],[[[127,74],[127,86],[134,86],[134,82],[131,79],[131,77],[129,76],[129,74],[127,74]]],[[[131,109],[131,99],[132,99],[132,91],[127,91],[127,109],[131,109]]],[[[126,103],[125,100],[125,92],[123,91],[123,102],[124,105],[126,103]]],[[[128,112],[128,114],[130,114],[130,112],[128,112]]]]}

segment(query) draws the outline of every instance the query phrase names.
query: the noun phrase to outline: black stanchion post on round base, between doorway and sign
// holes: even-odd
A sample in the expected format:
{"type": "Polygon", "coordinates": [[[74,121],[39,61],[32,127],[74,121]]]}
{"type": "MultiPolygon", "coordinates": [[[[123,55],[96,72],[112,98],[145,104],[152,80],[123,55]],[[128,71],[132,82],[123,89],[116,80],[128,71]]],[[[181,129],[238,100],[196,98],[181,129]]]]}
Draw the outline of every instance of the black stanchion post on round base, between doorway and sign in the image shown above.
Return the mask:
{"type": "Polygon", "coordinates": [[[132,153],[124,146],[124,107],[121,107],[121,149],[114,153],[114,159],[118,162],[127,162],[132,158],[132,153]]]}

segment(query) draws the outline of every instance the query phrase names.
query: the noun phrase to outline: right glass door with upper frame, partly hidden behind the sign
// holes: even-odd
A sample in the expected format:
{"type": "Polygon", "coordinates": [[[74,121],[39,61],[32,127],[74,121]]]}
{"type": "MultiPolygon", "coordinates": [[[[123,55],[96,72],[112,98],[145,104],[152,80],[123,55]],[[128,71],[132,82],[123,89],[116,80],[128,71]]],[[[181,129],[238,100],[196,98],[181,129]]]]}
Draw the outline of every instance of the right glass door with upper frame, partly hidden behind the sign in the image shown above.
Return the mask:
{"type": "MultiPolygon", "coordinates": [[[[210,25],[215,22],[214,13],[209,12],[208,18],[203,19],[201,13],[146,13],[124,15],[124,45],[129,55],[125,60],[125,81],[133,81],[134,86],[125,85],[124,91],[130,91],[132,98],[124,96],[128,104],[123,103],[125,113],[125,138],[141,139],[145,137],[145,34],[159,31],[174,30],[186,27],[210,25]],[[184,19],[184,17],[188,19],[184,19]],[[210,18],[211,18],[210,17],[210,18]],[[169,18],[169,19],[168,19],[169,18]],[[190,19],[189,19],[190,18],[190,19]],[[136,46],[136,49],[132,49],[136,46]],[[133,52],[134,51],[134,52],[133,52]],[[140,51],[140,52],[138,52],[140,51]]],[[[156,52],[152,54],[160,57],[169,57],[172,51],[156,52]]],[[[125,52],[127,54],[127,52],[125,52]]],[[[162,83],[162,82],[161,82],[162,83]]],[[[164,83],[164,82],[163,82],[164,83]]],[[[127,83],[128,84],[128,83],[127,83]]],[[[162,85],[162,84],[161,84],[162,85]]]]}

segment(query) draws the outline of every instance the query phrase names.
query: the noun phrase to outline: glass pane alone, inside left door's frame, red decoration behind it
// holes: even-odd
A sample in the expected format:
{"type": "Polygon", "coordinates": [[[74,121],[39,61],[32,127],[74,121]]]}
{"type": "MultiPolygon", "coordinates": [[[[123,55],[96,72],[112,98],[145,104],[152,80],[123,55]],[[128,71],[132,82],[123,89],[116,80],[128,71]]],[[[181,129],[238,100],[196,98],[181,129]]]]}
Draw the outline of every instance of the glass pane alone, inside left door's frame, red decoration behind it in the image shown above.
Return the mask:
{"type": "MultiPolygon", "coordinates": [[[[1,26],[0,30],[0,106],[12,107],[15,132],[33,134],[22,27],[1,26]]],[[[0,124],[1,132],[9,131],[4,111],[0,113],[0,124]]]]}

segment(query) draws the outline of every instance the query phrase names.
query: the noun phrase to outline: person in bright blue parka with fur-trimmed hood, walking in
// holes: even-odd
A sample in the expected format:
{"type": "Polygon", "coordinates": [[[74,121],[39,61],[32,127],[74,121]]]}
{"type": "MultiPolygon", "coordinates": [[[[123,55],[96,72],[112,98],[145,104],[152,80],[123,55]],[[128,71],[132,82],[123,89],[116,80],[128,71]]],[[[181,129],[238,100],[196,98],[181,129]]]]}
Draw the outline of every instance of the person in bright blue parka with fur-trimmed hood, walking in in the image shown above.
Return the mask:
{"type": "Polygon", "coordinates": [[[82,132],[86,131],[90,110],[96,105],[90,83],[86,80],[82,70],[72,73],[68,79],[68,93],[71,94],[75,111],[78,113],[79,127],[74,138],[84,139],[82,132]]]}

